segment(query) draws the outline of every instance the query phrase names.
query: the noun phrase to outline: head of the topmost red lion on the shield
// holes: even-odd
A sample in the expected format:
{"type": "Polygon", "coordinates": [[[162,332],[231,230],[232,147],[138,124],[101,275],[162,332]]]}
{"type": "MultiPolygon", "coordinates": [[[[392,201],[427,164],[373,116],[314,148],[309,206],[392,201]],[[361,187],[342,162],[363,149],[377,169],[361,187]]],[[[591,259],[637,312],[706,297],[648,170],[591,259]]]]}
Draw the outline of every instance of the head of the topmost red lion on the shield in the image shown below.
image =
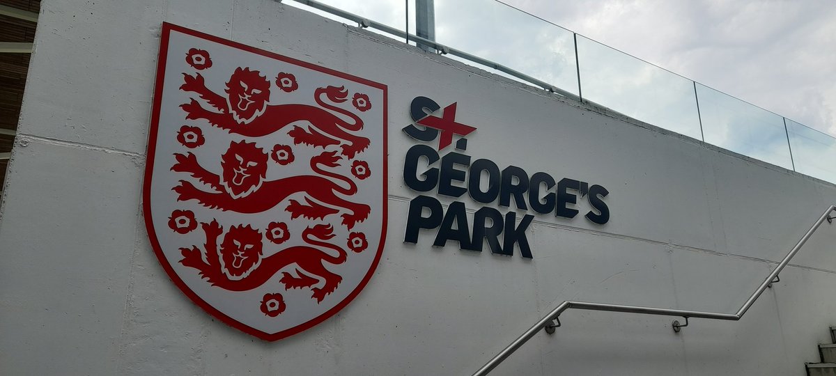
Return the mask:
{"type": "Polygon", "coordinates": [[[225,91],[232,118],[247,124],[267,109],[270,81],[257,70],[236,68],[225,91]]]}

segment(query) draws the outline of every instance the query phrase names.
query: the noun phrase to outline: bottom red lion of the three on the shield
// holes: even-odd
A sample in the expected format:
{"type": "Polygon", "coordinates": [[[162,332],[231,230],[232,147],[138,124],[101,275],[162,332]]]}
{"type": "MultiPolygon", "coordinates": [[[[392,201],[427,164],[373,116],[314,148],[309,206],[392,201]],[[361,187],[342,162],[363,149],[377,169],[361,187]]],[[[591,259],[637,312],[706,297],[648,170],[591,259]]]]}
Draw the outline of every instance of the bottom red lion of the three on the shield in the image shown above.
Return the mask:
{"type": "Polygon", "coordinates": [[[299,277],[283,272],[279,282],[284,284],[285,290],[309,287],[314,292],[311,297],[317,302],[322,302],[325,296],[334,292],[343,281],[343,277],[329,272],[324,265],[339,265],[348,257],[343,248],[323,241],[334,237],[333,227],[330,225],[316,225],[302,231],[303,240],[312,246],[291,246],[270,257],[263,257],[261,232],[250,226],[230,227],[223,236],[220,248],[217,246],[217,240],[223,233],[223,227],[212,220],[210,223],[201,223],[201,228],[206,233],[206,252],[198,246],[192,246],[191,249],[180,248],[183,256],[180,263],[200,271],[199,275],[212,286],[229,291],[252,290],[262,286],[284,267],[296,264],[299,277]],[[320,248],[329,248],[337,254],[334,256],[320,248]],[[310,277],[299,269],[315,277],[310,277]],[[322,287],[313,287],[319,283],[316,277],[324,281],[322,287]]]}

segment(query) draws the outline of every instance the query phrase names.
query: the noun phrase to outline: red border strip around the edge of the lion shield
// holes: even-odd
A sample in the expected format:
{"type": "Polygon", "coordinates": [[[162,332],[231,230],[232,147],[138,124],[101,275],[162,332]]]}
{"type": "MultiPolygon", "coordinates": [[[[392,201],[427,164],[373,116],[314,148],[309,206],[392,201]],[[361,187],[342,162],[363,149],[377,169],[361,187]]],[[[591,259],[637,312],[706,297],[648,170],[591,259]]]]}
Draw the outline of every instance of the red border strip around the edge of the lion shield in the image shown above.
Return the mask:
{"type": "Polygon", "coordinates": [[[374,81],[370,81],[368,79],[362,79],[350,74],[345,74],[343,72],[336,71],[334,69],[327,69],[324,67],[320,67],[318,65],[310,64],[303,62],[301,60],[297,60],[294,58],[288,58],[286,56],[280,55],[278,53],[272,53],[269,51],[265,51],[260,48],[254,48],[252,46],[247,46],[242,43],[232,42],[231,40],[227,40],[224,38],[219,38],[210,34],[197,32],[195,30],[191,30],[189,28],[184,28],[172,23],[162,23],[162,34],[161,34],[161,42],[160,42],[160,52],[158,55],[157,61],[157,71],[156,71],[156,78],[155,78],[155,89],[154,89],[154,100],[152,102],[152,112],[151,112],[151,121],[150,121],[150,133],[148,137],[148,150],[147,150],[147,160],[145,163],[145,179],[143,181],[142,187],[142,209],[143,209],[143,216],[145,217],[145,228],[148,231],[148,237],[150,240],[151,246],[154,248],[155,255],[157,259],[160,261],[161,266],[163,269],[166,270],[166,273],[171,278],[171,281],[176,284],[180,290],[186,294],[187,297],[191,299],[192,302],[195,302],[198,306],[203,308],[206,312],[212,314],[212,316],[220,319],[222,322],[227,323],[227,325],[231,326],[232,328],[237,328],[244,333],[251,334],[257,338],[262,338],[266,341],[276,341],[281,338],[286,338],[296,333],[303,332],[308,328],[312,328],[315,325],[322,323],[325,319],[330,318],[336,312],[342,310],[345,306],[349,304],[349,302],[354,300],[354,297],[357,297],[360,291],[366,286],[366,284],[371,279],[372,275],[375,273],[378,263],[380,262],[380,257],[383,254],[383,247],[385,243],[386,237],[386,222],[388,216],[388,208],[387,208],[387,192],[388,192],[388,157],[387,152],[389,150],[388,145],[388,95],[387,95],[387,87],[385,84],[376,83],[374,81]],[[263,55],[268,58],[275,58],[281,60],[283,62],[287,62],[289,64],[296,64],[302,66],[307,69],[313,69],[324,74],[331,74],[341,79],[347,79],[350,81],[357,82],[359,84],[369,85],[371,87],[383,90],[383,198],[382,198],[382,215],[383,220],[380,223],[380,245],[378,246],[377,253],[375,255],[375,260],[372,262],[371,267],[368,272],[366,272],[363,280],[354,288],[354,291],[350,292],[348,297],[345,297],[342,302],[339,302],[336,306],[329,309],[329,311],[320,314],[317,317],[314,317],[308,320],[305,323],[299,324],[293,328],[288,328],[278,333],[265,333],[261,330],[256,328],[252,328],[247,326],[244,323],[240,323],[237,320],[230,318],[223,312],[217,310],[215,307],[212,307],[209,303],[205,302],[201,297],[199,297],[195,292],[192,292],[189,287],[186,286],[186,283],[181,280],[181,278],[177,275],[174,269],[171,267],[169,262],[166,260],[163,252],[161,251],[160,242],[156,236],[154,226],[151,222],[151,213],[150,213],[150,182],[152,178],[152,170],[154,167],[154,157],[155,157],[155,146],[156,146],[156,139],[159,133],[159,122],[160,122],[160,112],[161,112],[161,96],[162,96],[162,89],[163,83],[165,78],[166,72],[166,57],[168,51],[168,43],[169,37],[172,31],[176,31],[179,33],[186,33],[188,35],[197,37],[197,38],[204,38],[206,40],[221,43],[227,45],[232,48],[239,48],[243,51],[247,51],[250,53],[257,53],[263,55]]]}

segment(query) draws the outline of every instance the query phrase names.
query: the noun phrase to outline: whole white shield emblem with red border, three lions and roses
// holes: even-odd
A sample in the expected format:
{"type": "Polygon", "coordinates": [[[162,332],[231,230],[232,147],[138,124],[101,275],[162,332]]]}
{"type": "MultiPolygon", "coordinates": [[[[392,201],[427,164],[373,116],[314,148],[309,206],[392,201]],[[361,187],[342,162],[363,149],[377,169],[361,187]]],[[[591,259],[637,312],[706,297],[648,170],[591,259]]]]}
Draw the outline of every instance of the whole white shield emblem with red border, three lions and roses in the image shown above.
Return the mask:
{"type": "Polygon", "coordinates": [[[383,251],[386,87],[163,24],[145,223],[171,280],[267,340],[345,307],[383,251]]]}

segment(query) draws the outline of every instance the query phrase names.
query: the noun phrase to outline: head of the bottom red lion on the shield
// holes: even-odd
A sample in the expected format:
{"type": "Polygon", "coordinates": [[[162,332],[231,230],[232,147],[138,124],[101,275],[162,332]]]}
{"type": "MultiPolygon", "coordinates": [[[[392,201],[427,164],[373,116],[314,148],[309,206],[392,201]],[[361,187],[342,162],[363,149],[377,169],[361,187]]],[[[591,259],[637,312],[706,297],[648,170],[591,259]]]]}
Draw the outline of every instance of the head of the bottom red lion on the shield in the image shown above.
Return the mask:
{"type": "Polygon", "coordinates": [[[237,281],[247,277],[262,261],[262,234],[247,226],[232,226],[223,236],[221,270],[227,278],[237,281]]]}

